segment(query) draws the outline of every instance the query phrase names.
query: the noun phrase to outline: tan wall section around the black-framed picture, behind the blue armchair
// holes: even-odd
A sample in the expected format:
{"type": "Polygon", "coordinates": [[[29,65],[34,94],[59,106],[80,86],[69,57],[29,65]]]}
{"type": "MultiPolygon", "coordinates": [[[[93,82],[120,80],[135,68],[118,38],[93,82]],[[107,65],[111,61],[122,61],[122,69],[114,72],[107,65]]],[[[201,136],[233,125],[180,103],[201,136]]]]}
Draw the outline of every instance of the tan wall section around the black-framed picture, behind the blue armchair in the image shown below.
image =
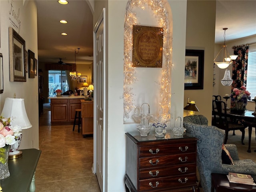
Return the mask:
{"type": "Polygon", "coordinates": [[[185,90],[184,106],[189,97],[199,109],[196,114],[203,114],[208,119],[208,124],[211,124],[216,2],[187,2],[186,49],[204,50],[204,88],[185,90]]]}

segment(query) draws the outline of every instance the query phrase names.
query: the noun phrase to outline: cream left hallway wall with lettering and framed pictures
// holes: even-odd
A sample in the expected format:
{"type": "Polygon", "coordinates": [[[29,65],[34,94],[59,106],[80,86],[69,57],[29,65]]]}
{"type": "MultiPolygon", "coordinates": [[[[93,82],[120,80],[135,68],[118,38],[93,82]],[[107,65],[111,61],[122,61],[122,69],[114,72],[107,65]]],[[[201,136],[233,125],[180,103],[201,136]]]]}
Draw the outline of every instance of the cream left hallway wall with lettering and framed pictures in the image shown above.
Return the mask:
{"type": "MultiPolygon", "coordinates": [[[[0,111],[4,106],[4,100],[7,97],[24,98],[26,112],[32,124],[32,128],[22,130],[22,141],[20,149],[39,148],[38,142],[38,76],[36,78],[28,78],[26,82],[10,82],[9,72],[9,34],[8,28],[13,25],[10,19],[17,22],[10,12],[12,2],[12,11],[19,12],[18,20],[20,20],[19,35],[26,42],[26,50],[32,50],[35,58],[38,58],[37,51],[37,9],[34,0],[30,1],[0,1],[0,52],[3,54],[3,70],[4,70],[4,93],[0,94],[0,111]]],[[[18,23],[18,22],[17,22],[18,23]]],[[[15,29],[18,32],[17,29],[15,29]]]]}

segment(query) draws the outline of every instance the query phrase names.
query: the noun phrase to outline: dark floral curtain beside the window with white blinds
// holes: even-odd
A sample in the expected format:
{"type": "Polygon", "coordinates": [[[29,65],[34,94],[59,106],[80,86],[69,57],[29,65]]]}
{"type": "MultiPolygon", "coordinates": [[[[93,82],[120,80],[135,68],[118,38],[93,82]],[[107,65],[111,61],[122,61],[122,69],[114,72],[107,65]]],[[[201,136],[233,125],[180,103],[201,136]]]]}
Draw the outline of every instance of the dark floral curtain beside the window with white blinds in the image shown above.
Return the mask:
{"type": "MultiPolygon", "coordinates": [[[[233,62],[232,67],[232,86],[231,92],[234,88],[240,88],[241,86],[246,86],[247,78],[247,62],[248,62],[248,45],[240,45],[232,47],[234,49],[234,54],[238,55],[236,60],[233,62]]],[[[235,102],[231,100],[230,108],[234,108],[235,102]]]]}

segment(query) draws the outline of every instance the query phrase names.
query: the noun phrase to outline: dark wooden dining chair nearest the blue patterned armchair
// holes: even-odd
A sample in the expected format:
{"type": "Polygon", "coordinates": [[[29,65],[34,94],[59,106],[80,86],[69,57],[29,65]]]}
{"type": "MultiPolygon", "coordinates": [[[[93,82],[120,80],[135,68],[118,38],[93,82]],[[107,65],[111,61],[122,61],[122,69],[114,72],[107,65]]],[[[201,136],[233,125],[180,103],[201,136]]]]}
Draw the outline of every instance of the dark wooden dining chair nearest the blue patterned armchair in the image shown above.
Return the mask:
{"type": "Polygon", "coordinates": [[[227,143],[228,140],[228,132],[234,130],[240,130],[242,132],[241,142],[244,145],[244,135],[246,125],[240,124],[236,121],[236,119],[227,118],[227,110],[226,104],[224,101],[212,101],[212,110],[213,112],[213,120],[212,125],[218,127],[219,129],[225,130],[225,140],[224,144],[227,143]],[[216,107],[216,109],[214,109],[216,107]]]}

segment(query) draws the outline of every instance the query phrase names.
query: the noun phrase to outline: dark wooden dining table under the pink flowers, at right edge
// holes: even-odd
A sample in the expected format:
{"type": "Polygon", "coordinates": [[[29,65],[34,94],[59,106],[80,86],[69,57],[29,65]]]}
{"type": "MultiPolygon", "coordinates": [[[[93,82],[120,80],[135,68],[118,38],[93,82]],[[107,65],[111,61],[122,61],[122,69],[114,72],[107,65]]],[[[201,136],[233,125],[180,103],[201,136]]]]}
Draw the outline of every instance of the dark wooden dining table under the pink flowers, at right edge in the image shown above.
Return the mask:
{"type": "MultiPolygon", "coordinates": [[[[252,127],[256,127],[256,116],[252,115],[253,112],[254,111],[246,110],[243,114],[236,114],[230,110],[227,111],[227,117],[244,120],[244,123],[246,123],[246,125],[248,126],[248,153],[251,152],[252,127]]],[[[256,152],[256,150],[254,151],[256,152]]]]}

